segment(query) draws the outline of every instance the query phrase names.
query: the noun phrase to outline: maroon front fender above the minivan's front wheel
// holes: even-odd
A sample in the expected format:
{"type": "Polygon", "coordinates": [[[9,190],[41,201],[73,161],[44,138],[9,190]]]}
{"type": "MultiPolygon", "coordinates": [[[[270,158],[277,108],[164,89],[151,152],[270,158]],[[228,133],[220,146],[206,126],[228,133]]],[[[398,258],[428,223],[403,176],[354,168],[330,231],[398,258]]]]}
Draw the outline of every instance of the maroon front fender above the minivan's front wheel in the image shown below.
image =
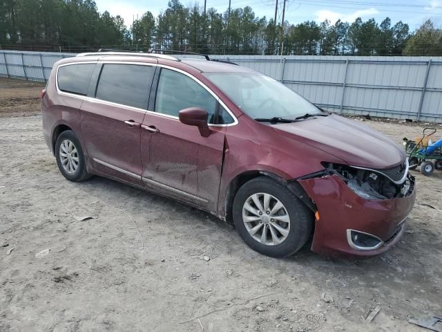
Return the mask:
{"type": "Polygon", "coordinates": [[[271,126],[242,115],[237,125],[226,129],[218,214],[226,215],[229,185],[240,174],[266,172],[290,181],[323,170],[323,160],[344,163],[325,151],[281,136],[271,126]]]}

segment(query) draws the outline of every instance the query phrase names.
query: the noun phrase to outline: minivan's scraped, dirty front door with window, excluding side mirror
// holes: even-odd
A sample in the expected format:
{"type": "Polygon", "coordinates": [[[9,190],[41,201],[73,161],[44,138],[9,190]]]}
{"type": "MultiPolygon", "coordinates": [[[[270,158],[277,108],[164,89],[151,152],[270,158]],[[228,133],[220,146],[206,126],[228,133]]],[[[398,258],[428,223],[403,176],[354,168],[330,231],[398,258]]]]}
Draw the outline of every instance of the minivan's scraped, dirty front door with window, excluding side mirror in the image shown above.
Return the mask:
{"type": "Polygon", "coordinates": [[[197,127],[182,124],[178,112],[201,107],[213,122],[218,101],[192,77],[162,68],[155,112],[142,125],[143,181],[157,192],[216,211],[225,127],[211,127],[202,137],[197,127]]]}

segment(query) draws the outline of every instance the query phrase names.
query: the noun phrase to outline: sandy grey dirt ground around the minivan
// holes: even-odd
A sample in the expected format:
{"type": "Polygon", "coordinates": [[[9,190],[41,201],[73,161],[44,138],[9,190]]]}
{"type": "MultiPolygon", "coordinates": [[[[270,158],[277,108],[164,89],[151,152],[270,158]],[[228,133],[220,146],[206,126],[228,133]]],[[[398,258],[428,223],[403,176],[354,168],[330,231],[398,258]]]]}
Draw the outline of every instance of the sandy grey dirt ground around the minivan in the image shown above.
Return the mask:
{"type": "MultiPolygon", "coordinates": [[[[42,137],[41,89],[0,80],[0,331],[425,331],[408,319],[442,315],[442,172],[412,172],[416,206],[384,255],[272,259],[173,200],[66,181],[42,137]],[[86,215],[97,219],[74,218],[86,215]]],[[[421,133],[365,124],[398,144],[421,133]]]]}

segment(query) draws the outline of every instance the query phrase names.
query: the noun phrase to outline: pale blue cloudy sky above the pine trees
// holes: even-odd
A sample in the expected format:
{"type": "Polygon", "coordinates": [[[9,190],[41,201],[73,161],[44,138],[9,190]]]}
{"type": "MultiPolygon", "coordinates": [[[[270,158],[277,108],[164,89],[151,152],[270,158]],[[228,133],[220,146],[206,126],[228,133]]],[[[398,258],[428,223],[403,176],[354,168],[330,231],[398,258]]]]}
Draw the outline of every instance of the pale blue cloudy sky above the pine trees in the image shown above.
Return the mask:
{"type": "MultiPolygon", "coordinates": [[[[278,20],[282,16],[282,3],[278,1],[278,20]]],[[[144,12],[151,11],[156,17],[167,8],[168,0],[95,0],[99,12],[108,10],[111,15],[123,17],[126,26],[131,26],[133,17],[141,17],[144,12]]],[[[204,7],[204,0],[181,0],[184,6],[195,3],[204,7]]],[[[231,0],[232,8],[250,6],[256,16],[273,18],[276,0],[231,0]]],[[[207,8],[215,8],[224,12],[229,7],[229,0],[206,0],[207,8]]],[[[289,0],[286,3],[285,20],[291,24],[315,20],[329,19],[332,24],[341,19],[352,23],[356,17],[370,19],[374,17],[381,23],[385,17],[392,19],[392,24],[403,21],[412,30],[430,18],[437,27],[442,27],[442,0],[289,0]]]]}

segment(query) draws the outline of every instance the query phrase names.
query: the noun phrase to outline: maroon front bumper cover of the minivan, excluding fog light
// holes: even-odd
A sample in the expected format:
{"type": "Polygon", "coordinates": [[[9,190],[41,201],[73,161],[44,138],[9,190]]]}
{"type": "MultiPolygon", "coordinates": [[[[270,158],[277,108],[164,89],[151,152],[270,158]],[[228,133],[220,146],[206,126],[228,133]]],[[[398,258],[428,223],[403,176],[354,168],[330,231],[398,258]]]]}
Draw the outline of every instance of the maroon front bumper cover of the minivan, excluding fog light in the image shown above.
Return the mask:
{"type": "Polygon", "coordinates": [[[337,175],[298,181],[316,203],[311,250],[326,256],[370,257],[381,254],[401,239],[405,219],[413,208],[416,187],[398,199],[367,200],[355,194],[337,175]],[[347,239],[347,230],[372,234],[383,243],[373,250],[358,250],[347,239]]]}

